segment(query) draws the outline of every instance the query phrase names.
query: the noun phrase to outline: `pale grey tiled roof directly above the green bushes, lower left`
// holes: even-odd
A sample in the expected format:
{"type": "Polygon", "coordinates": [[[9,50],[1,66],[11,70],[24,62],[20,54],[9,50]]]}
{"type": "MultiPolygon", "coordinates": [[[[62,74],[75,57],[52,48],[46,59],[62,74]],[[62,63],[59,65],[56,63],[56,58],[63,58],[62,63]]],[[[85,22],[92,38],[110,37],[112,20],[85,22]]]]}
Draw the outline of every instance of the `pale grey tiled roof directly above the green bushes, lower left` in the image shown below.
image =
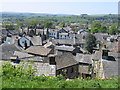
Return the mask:
{"type": "Polygon", "coordinates": [[[56,65],[50,65],[49,63],[42,62],[24,62],[20,63],[20,65],[24,66],[24,68],[31,65],[32,68],[36,70],[36,76],[40,76],[42,74],[45,76],[56,76],[56,65]]]}

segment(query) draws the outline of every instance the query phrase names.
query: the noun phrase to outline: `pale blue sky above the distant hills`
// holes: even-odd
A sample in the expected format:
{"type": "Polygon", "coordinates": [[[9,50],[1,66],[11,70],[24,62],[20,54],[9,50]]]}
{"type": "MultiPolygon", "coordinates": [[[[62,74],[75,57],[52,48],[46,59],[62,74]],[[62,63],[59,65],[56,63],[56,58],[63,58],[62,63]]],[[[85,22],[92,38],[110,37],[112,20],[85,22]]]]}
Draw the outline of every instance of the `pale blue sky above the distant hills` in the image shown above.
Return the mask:
{"type": "Polygon", "coordinates": [[[2,0],[1,12],[117,14],[119,0],[2,0]]]}

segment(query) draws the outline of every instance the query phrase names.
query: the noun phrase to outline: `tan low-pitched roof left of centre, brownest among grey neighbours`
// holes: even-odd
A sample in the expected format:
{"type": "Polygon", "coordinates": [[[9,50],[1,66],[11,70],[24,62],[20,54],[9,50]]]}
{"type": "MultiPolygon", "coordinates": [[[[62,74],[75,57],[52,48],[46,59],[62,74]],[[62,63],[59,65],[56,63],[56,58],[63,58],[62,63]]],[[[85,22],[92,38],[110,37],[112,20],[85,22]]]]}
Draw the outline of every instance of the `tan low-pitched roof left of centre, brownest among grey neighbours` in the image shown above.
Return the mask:
{"type": "Polygon", "coordinates": [[[52,49],[44,48],[43,46],[31,46],[28,49],[26,49],[26,52],[36,54],[36,55],[42,55],[47,56],[52,49]]]}

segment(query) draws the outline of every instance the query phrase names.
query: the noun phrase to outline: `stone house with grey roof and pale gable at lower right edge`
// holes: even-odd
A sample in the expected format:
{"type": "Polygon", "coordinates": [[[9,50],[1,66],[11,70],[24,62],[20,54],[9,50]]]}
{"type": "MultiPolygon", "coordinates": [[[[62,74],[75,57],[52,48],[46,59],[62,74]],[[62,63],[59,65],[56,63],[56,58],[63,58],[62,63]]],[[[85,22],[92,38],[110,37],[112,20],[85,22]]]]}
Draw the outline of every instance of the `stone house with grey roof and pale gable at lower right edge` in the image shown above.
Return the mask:
{"type": "Polygon", "coordinates": [[[119,53],[97,51],[92,59],[94,77],[109,78],[119,75],[119,53]]]}

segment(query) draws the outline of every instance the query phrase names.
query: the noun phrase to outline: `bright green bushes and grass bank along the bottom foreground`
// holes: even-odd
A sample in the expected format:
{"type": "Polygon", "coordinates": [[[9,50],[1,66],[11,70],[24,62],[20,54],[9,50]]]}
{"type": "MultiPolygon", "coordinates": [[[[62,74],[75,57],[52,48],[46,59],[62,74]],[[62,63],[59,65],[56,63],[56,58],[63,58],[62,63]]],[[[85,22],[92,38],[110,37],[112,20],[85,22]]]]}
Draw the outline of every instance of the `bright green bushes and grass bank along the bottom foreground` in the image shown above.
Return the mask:
{"type": "Polygon", "coordinates": [[[13,66],[6,63],[3,66],[3,88],[118,88],[118,79],[77,78],[65,80],[62,75],[34,76],[31,66],[13,66]]]}

